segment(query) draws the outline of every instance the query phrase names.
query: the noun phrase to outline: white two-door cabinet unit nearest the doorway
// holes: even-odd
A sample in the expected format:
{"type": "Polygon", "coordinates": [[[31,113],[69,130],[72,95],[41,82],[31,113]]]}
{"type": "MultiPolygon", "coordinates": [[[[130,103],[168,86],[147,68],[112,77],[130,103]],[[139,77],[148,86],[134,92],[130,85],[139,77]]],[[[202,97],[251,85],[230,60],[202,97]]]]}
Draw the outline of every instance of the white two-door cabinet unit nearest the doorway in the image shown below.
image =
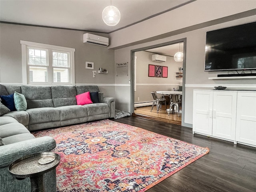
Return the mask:
{"type": "Polygon", "coordinates": [[[193,133],[235,142],[236,91],[194,90],[193,133]]]}

